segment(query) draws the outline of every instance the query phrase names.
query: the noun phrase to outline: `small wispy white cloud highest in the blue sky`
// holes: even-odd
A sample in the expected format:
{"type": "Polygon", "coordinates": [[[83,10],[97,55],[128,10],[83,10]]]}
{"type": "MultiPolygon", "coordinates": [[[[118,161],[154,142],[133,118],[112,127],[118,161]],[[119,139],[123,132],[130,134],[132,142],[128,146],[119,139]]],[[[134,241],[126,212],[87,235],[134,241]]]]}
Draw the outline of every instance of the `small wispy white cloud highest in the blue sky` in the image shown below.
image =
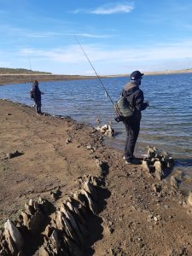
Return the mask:
{"type": "Polygon", "coordinates": [[[134,9],[133,3],[108,3],[96,9],[76,9],[73,14],[87,13],[94,15],[115,15],[130,13],[134,9]]]}

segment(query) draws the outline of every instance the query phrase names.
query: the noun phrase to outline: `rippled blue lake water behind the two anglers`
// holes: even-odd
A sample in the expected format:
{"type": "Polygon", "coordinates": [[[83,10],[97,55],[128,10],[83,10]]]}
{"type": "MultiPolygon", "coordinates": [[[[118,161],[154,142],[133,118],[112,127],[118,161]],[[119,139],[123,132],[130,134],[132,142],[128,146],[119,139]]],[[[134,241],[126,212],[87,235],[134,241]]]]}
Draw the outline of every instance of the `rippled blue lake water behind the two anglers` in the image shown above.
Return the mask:
{"type": "MultiPolygon", "coordinates": [[[[128,78],[102,79],[113,101],[128,78]]],[[[192,74],[144,76],[141,89],[145,100],[155,108],[143,111],[141,131],[137,141],[137,154],[146,154],[147,145],[166,150],[177,159],[177,166],[192,170],[192,74]],[[156,108],[160,108],[156,109],[156,108]]],[[[96,126],[113,121],[115,113],[112,103],[106,98],[98,79],[42,82],[44,91],[42,110],[71,116],[81,122],[96,126]]],[[[0,98],[32,106],[29,97],[31,84],[0,86],[0,98]]],[[[118,132],[115,138],[107,139],[114,148],[124,148],[125,127],[113,121],[118,132]]]]}

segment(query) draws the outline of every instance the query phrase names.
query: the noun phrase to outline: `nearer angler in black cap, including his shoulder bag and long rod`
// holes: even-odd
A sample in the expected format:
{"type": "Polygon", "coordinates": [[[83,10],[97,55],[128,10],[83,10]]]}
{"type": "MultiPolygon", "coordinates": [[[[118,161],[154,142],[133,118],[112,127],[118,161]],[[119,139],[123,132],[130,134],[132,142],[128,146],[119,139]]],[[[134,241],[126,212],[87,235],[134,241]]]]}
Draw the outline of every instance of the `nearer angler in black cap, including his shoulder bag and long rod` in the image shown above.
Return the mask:
{"type": "MultiPolygon", "coordinates": [[[[74,36],[75,40],[78,42],[80,48],[84,52],[82,45],[79,43],[79,40],[76,36],[74,36]]],[[[85,57],[90,62],[88,55],[84,52],[85,57]]],[[[90,62],[90,66],[96,73],[96,69],[93,67],[90,62]]],[[[96,73],[97,79],[99,79],[102,84],[102,88],[105,90],[106,96],[110,99],[113,104],[113,108],[115,108],[117,117],[115,120],[117,122],[123,121],[126,128],[126,141],[125,141],[125,154],[124,159],[126,164],[134,164],[137,163],[134,157],[134,149],[137,143],[137,137],[140,131],[140,122],[142,119],[142,113],[145,108],[149,107],[148,102],[144,102],[143,91],[139,89],[139,85],[141,84],[143,73],[139,71],[134,71],[131,73],[131,82],[125,84],[125,87],[121,93],[121,98],[123,101],[118,101],[116,103],[113,102],[111,96],[106,90],[102,80],[99,75],[96,73]],[[120,102],[120,104],[119,104],[120,102]],[[121,109],[119,107],[122,107],[121,109]],[[121,111],[123,109],[123,112],[121,111]],[[125,114],[125,115],[124,115],[125,114]]]]}

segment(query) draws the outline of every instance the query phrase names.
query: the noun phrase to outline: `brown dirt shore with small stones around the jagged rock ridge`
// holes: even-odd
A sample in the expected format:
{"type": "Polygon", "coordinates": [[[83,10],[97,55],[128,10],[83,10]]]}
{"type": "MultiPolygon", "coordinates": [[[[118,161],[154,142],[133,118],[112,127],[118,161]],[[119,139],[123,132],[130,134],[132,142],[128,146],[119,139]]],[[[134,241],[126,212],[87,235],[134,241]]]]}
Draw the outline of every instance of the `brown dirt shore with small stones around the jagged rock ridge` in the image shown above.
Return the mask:
{"type": "Polygon", "coordinates": [[[106,147],[98,131],[73,119],[37,116],[32,108],[3,100],[0,118],[2,229],[30,199],[41,196],[56,207],[77,188],[79,177],[98,175],[98,159],[108,166],[106,192],[92,220],[85,254],[192,255],[191,208],[171,189],[169,177],[159,182],[142,166],[125,165],[122,152],[106,147]],[[23,154],[7,159],[14,150],[23,154]],[[154,184],[160,184],[160,192],[154,184]],[[50,191],[57,188],[61,196],[55,201],[50,191]]]}

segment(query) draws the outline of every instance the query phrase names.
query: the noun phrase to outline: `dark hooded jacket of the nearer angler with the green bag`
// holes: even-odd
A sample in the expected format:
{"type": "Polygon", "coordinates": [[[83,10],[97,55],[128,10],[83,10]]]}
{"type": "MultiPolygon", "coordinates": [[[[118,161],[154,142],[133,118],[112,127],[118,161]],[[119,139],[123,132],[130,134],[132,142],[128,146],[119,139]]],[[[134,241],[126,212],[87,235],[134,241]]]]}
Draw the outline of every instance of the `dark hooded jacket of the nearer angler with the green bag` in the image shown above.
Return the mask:
{"type": "Polygon", "coordinates": [[[141,111],[148,107],[148,103],[144,102],[143,90],[140,90],[137,84],[129,82],[125,84],[121,95],[124,96],[136,110],[134,115],[129,119],[129,122],[140,121],[142,118],[141,111]]]}

